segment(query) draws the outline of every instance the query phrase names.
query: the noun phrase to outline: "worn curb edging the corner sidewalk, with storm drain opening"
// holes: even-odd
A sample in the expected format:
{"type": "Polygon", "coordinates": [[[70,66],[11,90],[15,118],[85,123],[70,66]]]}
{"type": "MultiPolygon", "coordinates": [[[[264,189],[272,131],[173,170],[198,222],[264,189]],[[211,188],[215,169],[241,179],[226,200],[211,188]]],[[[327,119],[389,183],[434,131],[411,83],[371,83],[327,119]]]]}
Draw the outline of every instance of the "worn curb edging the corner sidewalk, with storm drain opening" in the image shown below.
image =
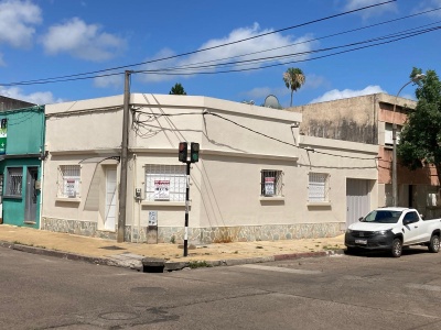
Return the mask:
{"type": "MultiPolygon", "coordinates": [[[[118,257],[95,257],[75,254],[71,252],[47,250],[43,248],[29,246],[23,244],[15,244],[10,242],[0,241],[0,248],[8,248],[15,251],[54,256],[71,261],[83,261],[96,265],[106,265],[106,266],[117,266],[123,268],[136,270],[143,273],[164,273],[164,272],[173,272],[173,271],[182,271],[192,268],[192,264],[201,263],[203,261],[192,261],[192,262],[175,262],[175,261],[165,261],[163,258],[152,258],[152,257],[141,257],[132,260],[132,261],[123,261],[118,257]],[[151,271],[150,271],[151,270],[151,271]]],[[[301,252],[301,253],[288,253],[288,254],[277,254],[272,256],[259,256],[259,257],[246,257],[246,258],[229,258],[229,260],[217,260],[217,261],[204,261],[201,267],[217,267],[217,266],[237,266],[245,264],[258,264],[258,263],[267,263],[275,261],[284,261],[284,260],[297,260],[303,257],[321,257],[321,256],[332,256],[344,254],[344,250],[329,250],[321,252],[301,252]]]]}

